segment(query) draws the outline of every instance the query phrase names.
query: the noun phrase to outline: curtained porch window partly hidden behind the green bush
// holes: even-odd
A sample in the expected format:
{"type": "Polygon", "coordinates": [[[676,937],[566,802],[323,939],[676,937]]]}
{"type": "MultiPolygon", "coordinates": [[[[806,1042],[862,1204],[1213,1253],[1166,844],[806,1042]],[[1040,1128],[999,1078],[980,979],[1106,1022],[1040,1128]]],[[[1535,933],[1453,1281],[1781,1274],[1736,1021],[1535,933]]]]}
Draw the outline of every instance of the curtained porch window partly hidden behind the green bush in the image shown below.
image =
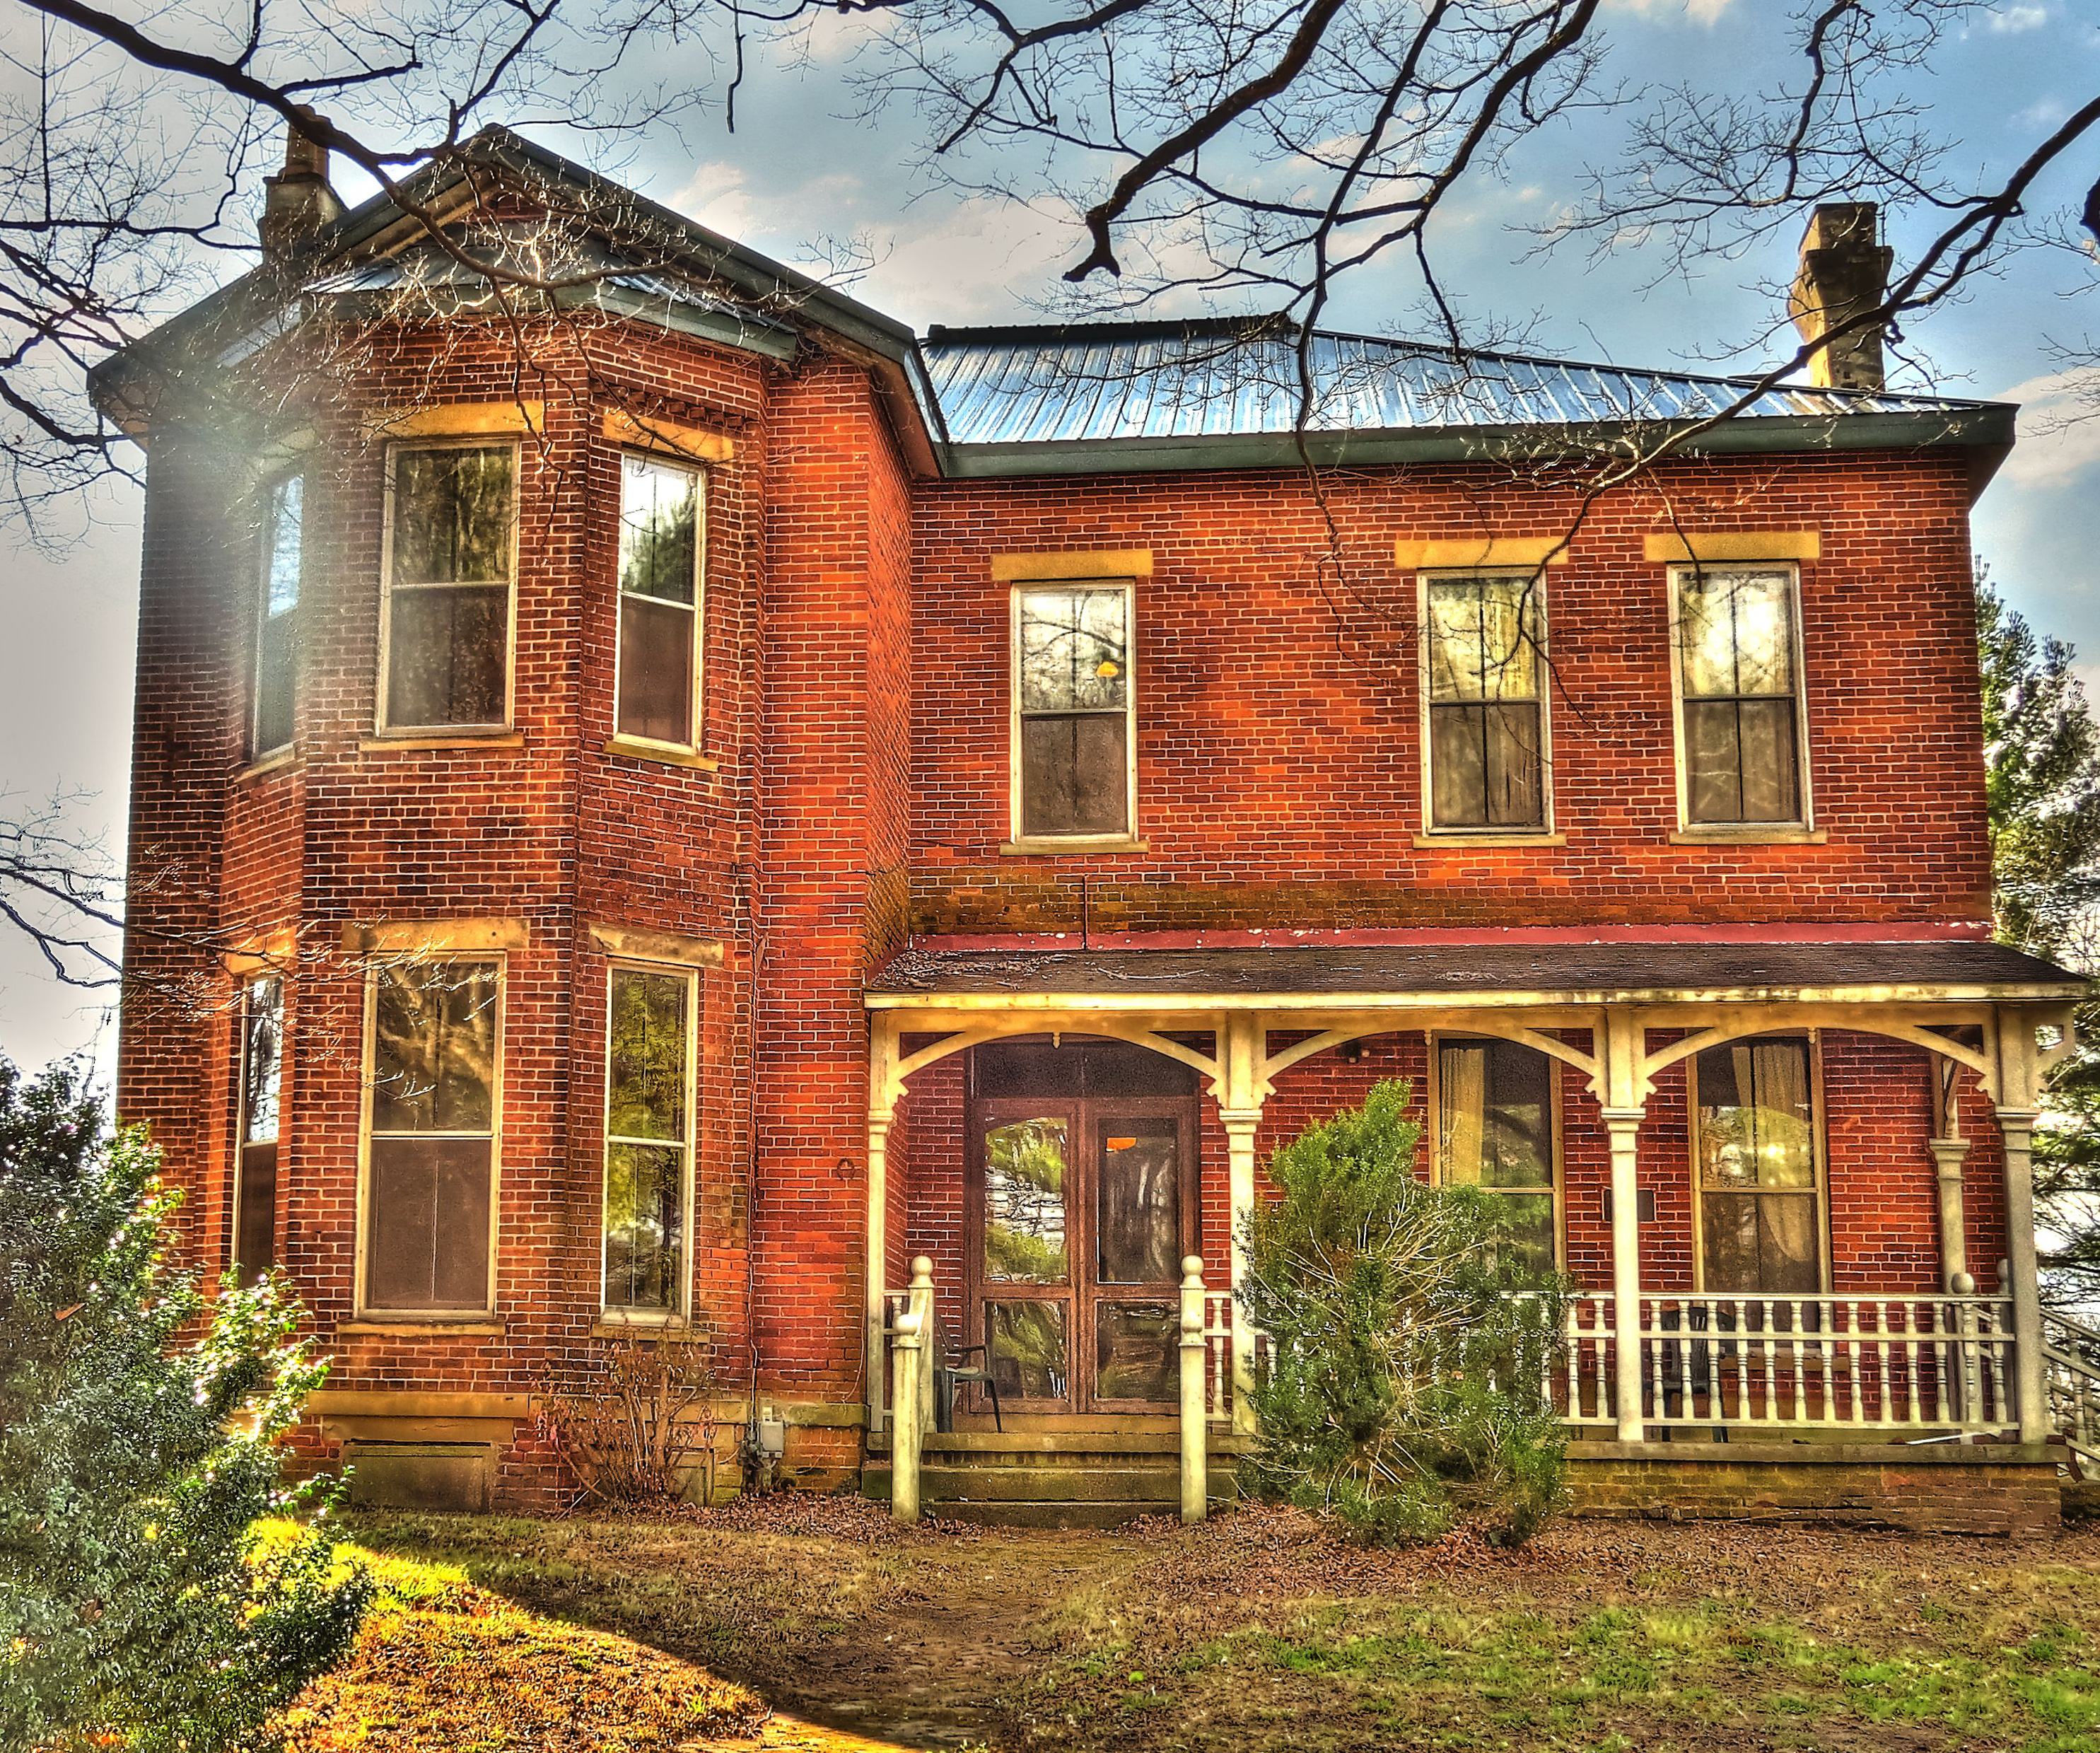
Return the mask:
{"type": "Polygon", "coordinates": [[[1558,1253],[1552,1060],[1518,1041],[1438,1041],[1436,1108],[1445,1182],[1495,1188],[1527,1264],[1550,1272],[1558,1253]]]}

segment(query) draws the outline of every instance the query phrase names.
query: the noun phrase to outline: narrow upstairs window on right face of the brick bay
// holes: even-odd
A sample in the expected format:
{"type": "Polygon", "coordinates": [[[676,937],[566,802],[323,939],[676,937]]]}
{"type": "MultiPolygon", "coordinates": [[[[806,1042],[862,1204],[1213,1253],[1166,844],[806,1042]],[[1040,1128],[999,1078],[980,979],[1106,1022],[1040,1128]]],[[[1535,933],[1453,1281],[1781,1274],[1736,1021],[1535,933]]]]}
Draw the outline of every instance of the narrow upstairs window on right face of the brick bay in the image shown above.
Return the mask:
{"type": "Polygon", "coordinates": [[[620,460],[620,712],[615,731],[699,747],[701,474],[620,460]]]}

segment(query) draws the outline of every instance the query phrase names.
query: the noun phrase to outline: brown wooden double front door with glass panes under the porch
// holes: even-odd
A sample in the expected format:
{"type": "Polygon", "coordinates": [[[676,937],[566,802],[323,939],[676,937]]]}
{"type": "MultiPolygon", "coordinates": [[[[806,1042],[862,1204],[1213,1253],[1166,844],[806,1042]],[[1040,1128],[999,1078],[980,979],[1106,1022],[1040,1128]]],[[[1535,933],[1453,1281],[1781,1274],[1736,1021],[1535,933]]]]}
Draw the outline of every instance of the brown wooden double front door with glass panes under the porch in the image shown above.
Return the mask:
{"type": "Polygon", "coordinates": [[[1010,1043],[974,1058],[972,1342],[987,1348],[1002,1402],[1168,1411],[1180,1260],[1195,1245],[1193,1077],[1113,1041],[1010,1043]],[[1016,1085],[1037,1094],[1008,1094],[1016,1085]]]}

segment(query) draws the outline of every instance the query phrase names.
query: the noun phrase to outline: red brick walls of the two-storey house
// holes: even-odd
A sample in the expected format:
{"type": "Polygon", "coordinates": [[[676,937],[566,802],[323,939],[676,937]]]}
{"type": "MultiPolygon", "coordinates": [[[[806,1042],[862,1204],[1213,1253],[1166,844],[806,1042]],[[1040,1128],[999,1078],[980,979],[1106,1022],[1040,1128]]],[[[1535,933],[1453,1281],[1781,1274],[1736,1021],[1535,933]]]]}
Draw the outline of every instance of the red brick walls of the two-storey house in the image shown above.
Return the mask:
{"type": "MultiPolygon", "coordinates": [[[[790,1461],[853,1465],[865,1396],[872,970],[911,934],[1142,934],[1636,924],[1982,930],[1989,915],[1968,474],[1955,451],[1709,458],[1592,506],[1548,571],[1558,844],[1422,846],[1415,573],[1396,540],[1556,535],[1550,470],[1354,468],[939,481],[914,470],[872,372],[662,330],[592,332],[521,443],[514,735],[374,739],[382,458],[349,418],[309,464],[294,758],[244,770],[254,542],[237,458],[151,447],[132,873],[139,926],[120,1106],[187,1192],[187,1247],[227,1260],[233,974],[202,953],[294,932],[277,1258],[336,1356],[330,1392],[376,1396],[309,1432],[481,1432],[498,1495],[552,1488],[523,1396],[598,1318],[607,953],[592,926],[718,943],[699,972],[691,1306],[724,1392],[802,1409],[790,1461]],[[613,407],[720,435],[708,472],[701,762],[613,737],[620,443],[613,407]],[[1800,567],[1816,838],[1680,844],[1665,567],[1678,529],[1814,531],[1800,567]],[[1140,852],[1004,857],[1010,588],[995,554],[1149,550],[1136,586],[1140,852]],[[504,920],[496,1318],[418,1333],[355,1318],[365,1054],[355,932],[504,920]],[[344,936],[344,930],[351,936],[344,936]],[[458,1413],[384,1396],[462,1398],[458,1413]],[[386,1411],[395,1407],[395,1411],[386,1411]]],[[[355,409],[502,405],[506,355],[410,342],[361,372],[355,409]],[[422,349],[422,351],[418,351],[422,349]]],[[[1279,1079],[1266,1153],[1380,1077],[1418,1094],[1424,1033],[1279,1079]]],[[[1922,1048],[1821,1039],[1831,1289],[1934,1289],[1940,1253],[1922,1048]]],[[[964,1077],[920,1073],[890,1134],[886,1270],[928,1253],[962,1283],[964,1077]]],[[[1970,1270],[2006,1247],[1989,1108],[1970,1098],[1970,1270]]],[[[1640,1144],[1655,1192],[1644,1281],[1690,1285],[1684,1073],[1640,1144]]],[[[1228,1258],[1226,1144],[1203,1104],[1201,1251],[1228,1258]]],[[[1609,1157],[1596,1096],[1560,1073],[1564,1264],[1609,1287],[1609,1157]]],[[[956,1304],[951,1321],[962,1323],[956,1304]]],[[[437,1404],[437,1402],[430,1402],[437,1404]]]]}

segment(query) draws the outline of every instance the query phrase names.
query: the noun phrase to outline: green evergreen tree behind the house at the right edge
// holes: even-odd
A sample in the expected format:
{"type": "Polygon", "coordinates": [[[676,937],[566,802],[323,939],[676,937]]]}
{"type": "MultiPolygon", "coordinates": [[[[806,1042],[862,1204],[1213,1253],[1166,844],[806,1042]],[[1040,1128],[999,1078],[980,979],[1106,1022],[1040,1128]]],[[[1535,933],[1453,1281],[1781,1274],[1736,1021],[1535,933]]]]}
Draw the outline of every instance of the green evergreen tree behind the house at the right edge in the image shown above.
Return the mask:
{"type": "MultiPolygon", "coordinates": [[[[1976,569],[1984,785],[1997,936],[2100,972],[2100,726],[2073,649],[2039,638],[1976,569]]],[[[2100,1001],[2058,1064],[2035,1129],[2043,1297],[2100,1302],[2100,1001]]]]}

